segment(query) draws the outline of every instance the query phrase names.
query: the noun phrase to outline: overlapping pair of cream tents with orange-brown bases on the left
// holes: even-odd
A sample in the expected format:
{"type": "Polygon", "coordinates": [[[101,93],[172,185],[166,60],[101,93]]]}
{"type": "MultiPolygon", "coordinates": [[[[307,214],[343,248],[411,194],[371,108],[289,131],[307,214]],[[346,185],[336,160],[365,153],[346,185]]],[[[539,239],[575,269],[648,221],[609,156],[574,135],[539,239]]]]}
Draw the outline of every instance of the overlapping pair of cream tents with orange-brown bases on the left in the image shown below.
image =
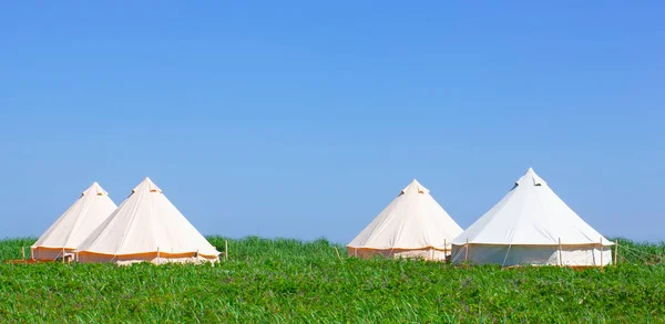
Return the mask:
{"type": "Polygon", "coordinates": [[[31,255],[130,264],[215,262],[219,252],[145,178],[117,208],[94,182],[31,247],[31,255]]]}

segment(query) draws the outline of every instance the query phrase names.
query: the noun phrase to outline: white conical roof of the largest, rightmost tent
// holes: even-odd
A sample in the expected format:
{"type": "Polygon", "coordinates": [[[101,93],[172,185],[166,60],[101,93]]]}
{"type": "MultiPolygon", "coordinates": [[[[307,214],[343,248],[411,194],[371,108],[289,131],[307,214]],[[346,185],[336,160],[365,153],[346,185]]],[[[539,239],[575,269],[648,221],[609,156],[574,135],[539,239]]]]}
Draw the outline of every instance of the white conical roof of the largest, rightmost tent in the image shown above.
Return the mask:
{"type": "Polygon", "coordinates": [[[580,218],[533,169],[492,209],[454,239],[453,244],[612,245],[580,218]]]}

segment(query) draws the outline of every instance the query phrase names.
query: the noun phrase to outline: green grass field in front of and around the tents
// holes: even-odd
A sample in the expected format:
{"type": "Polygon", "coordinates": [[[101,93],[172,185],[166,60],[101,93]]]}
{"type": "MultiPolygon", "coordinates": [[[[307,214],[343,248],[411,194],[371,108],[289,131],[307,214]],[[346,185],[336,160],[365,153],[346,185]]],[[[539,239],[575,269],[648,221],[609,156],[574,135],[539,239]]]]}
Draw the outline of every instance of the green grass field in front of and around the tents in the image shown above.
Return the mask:
{"type": "MultiPolygon", "coordinates": [[[[0,259],[33,241],[0,241],[0,259]]],[[[334,247],[229,240],[216,266],[2,263],[0,322],[665,323],[665,244],[621,240],[603,271],[358,260],[337,245],[340,260],[334,247]]]]}

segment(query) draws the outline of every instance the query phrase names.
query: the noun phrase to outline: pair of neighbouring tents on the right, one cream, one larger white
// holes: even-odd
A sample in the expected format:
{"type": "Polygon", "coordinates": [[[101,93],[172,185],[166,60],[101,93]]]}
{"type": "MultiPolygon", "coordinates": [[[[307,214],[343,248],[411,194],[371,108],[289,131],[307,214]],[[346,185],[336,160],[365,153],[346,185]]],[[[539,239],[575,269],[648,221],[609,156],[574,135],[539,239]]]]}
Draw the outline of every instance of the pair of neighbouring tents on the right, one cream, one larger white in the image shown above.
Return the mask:
{"type": "Polygon", "coordinates": [[[612,261],[611,245],[530,168],[464,231],[413,180],[347,248],[358,257],[602,266],[612,261]]]}

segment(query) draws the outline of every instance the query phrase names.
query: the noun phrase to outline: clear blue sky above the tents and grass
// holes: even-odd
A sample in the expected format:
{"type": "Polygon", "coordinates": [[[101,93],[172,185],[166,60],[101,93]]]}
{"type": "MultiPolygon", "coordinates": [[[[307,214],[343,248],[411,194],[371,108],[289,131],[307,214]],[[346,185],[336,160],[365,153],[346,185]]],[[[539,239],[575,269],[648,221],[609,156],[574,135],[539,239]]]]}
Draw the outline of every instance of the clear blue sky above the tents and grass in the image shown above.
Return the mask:
{"type": "Polygon", "coordinates": [[[665,3],[541,2],[4,3],[0,238],[145,176],[206,234],[347,243],[413,178],[466,228],[533,167],[665,240],[665,3]]]}

